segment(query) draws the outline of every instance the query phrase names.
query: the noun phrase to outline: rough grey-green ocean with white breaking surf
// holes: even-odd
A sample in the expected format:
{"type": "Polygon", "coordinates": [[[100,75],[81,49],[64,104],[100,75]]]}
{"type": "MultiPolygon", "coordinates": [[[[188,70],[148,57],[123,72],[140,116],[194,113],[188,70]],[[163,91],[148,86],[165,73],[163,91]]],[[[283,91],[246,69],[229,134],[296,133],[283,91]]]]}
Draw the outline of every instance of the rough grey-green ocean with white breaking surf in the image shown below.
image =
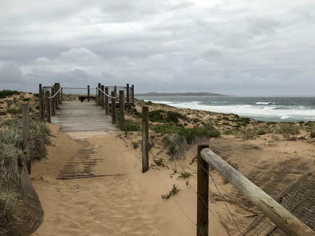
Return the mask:
{"type": "Polygon", "coordinates": [[[315,120],[315,97],[137,97],[177,108],[190,108],[276,122],[315,120]]]}

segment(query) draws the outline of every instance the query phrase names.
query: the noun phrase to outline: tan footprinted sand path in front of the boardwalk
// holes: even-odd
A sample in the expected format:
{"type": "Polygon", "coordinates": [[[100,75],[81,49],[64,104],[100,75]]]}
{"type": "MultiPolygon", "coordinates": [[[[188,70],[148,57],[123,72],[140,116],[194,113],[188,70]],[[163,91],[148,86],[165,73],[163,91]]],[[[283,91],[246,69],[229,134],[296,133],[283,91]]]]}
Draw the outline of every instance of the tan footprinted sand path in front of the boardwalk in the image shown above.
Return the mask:
{"type": "MultiPolygon", "coordinates": [[[[89,139],[95,151],[104,158],[100,168],[116,168],[120,176],[56,180],[80,143],[58,132],[51,125],[53,145],[48,147],[48,158],[32,164],[32,183],[45,212],[43,224],[32,236],[177,236],[195,235],[195,181],[187,187],[184,180],[170,178],[172,171],[150,170],[141,173],[139,153],[111,134],[89,139]],[[120,161],[118,161],[120,160],[120,161]],[[122,161],[123,160],[123,161],[122,161]],[[110,167],[106,167],[110,163],[110,167]],[[114,166],[113,166],[114,165],[114,166]],[[162,200],[178,184],[181,191],[174,199],[162,200]]],[[[95,167],[97,168],[97,167],[95,167]]],[[[220,204],[212,204],[220,211],[220,204]]],[[[227,235],[220,223],[210,216],[210,232],[227,235]]]]}

